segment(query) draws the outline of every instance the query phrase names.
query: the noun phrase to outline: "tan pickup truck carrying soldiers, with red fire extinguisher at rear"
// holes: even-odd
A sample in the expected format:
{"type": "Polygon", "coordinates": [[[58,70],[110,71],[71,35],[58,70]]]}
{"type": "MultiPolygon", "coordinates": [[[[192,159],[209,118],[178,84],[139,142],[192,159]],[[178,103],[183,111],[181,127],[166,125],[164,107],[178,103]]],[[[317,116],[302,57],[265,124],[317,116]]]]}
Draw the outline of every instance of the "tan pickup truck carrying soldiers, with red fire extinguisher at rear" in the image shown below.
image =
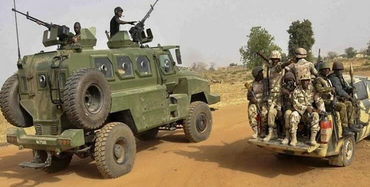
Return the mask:
{"type": "MultiPolygon", "coordinates": [[[[345,75],[344,79],[349,82],[350,77],[345,75]]],[[[269,142],[263,142],[262,139],[250,139],[248,142],[260,148],[271,150],[278,158],[285,158],[288,155],[327,158],[330,165],[348,166],[353,162],[356,143],[370,135],[370,126],[368,125],[370,123],[369,85],[370,80],[367,77],[354,76],[353,86],[357,90],[354,97],[359,100],[360,121],[365,124],[360,132],[354,133],[354,136],[342,137],[340,119],[333,118],[332,114],[328,113],[320,115],[320,132],[316,137],[318,144],[315,146],[306,144],[309,139],[304,135],[304,124],[298,125],[298,143],[294,147],[280,144],[282,140],[280,138],[269,142]]],[[[338,113],[334,115],[338,116],[338,113]]],[[[281,133],[280,137],[282,136],[281,133]]]]}

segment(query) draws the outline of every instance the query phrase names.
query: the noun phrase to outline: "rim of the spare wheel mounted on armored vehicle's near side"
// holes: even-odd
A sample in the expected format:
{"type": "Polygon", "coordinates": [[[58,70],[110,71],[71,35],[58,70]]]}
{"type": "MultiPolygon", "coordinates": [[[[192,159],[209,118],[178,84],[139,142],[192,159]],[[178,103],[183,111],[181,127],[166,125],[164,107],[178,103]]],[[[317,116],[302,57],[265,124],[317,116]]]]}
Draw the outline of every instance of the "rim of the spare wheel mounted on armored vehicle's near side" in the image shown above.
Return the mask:
{"type": "Polygon", "coordinates": [[[96,114],[102,107],[102,94],[96,84],[90,84],[84,94],[83,101],[88,112],[96,114]]]}

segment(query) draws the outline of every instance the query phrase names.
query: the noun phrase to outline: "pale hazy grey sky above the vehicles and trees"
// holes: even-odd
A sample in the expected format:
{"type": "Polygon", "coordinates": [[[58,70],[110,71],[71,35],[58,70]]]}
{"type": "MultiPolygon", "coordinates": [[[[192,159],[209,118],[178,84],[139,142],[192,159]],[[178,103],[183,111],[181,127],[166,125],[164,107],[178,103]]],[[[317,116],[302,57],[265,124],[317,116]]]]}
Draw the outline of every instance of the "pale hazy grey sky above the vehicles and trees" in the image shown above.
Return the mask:
{"type": "MultiPolygon", "coordinates": [[[[75,21],[82,27],[96,27],[95,49],[104,49],[113,8],[121,6],[123,20],[139,20],[154,0],[16,0],[19,11],[46,22],[65,24],[73,30],[75,21]],[[61,3],[62,2],[62,3],[61,3]]],[[[16,71],[16,35],[13,0],[0,0],[0,84],[16,71]]],[[[312,21],[315,44],[327,51],[343,53],[349,46],[366,47],[370,39],[370,0],[159,0],[145,22],[151,28],[154,46],[180,45],[183,65],[194,61],[215,62],[226,66],[240,63],[239,48],[253,26],[262,26],[287,51],[286,32],[294,20],[312,21]]],[[[56,47],[43,47],[45,27],[17,14],[21,55],[56,47]]],[[[128,30],[129,26],[121,26],[128,30]]]]}

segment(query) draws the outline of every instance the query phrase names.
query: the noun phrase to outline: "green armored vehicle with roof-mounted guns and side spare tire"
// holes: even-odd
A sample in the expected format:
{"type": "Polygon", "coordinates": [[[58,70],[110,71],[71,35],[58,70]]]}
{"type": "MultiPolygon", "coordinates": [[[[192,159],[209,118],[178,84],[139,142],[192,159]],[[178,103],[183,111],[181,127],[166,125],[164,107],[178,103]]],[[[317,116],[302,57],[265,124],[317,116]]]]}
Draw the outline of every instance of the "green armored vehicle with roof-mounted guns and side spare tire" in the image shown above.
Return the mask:
{"type": "Polygon", "coordinates": [[[94,29],[82,28],[78,43],[69,44],[65,25],[24,15],[47,26],[43,45],[58,49],[19,59],[1,88],[2,114],[18,127],[8,129],[7,142],[33,150],[33,160],[21,167],[56,172],[76,155],[93,158],[103,177],[116,178],[133,167],[135,137],[150,140],[159,130],[182,128],[190,142],[208,138],[208,105],[220,96],[198,74],[176,66],[170,49],[181,64],[179,46],[143,45],[153,38],[143,31],[144,19],[130,29],[133,41],[119,31],[107,35],[109,49],[94,50],[94,29]],[[35,135],[23,130],[31,126],[35,135]]]}

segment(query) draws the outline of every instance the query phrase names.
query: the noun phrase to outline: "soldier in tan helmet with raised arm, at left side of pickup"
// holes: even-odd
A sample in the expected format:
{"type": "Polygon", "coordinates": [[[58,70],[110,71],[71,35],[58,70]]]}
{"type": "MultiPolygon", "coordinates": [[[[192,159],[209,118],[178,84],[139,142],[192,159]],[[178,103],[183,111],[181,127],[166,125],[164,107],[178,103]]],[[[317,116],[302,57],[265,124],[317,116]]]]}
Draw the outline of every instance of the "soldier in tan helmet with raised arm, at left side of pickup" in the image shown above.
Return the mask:
{"type": "Polygon", "coordinates": [[[267,72],[269,75],[270,93],[268,95],[268,135],[263,139],[268,142],[270,139],[277,138],[277,131],[275,125],[276,116],[281,116],[281,93],[280,88],[282,78],[284,76],[284,67],[290,64],[289,62],[282,63],[281,54],[279,51],[273,50],[269,55],[271,67],[267,72]]]}

